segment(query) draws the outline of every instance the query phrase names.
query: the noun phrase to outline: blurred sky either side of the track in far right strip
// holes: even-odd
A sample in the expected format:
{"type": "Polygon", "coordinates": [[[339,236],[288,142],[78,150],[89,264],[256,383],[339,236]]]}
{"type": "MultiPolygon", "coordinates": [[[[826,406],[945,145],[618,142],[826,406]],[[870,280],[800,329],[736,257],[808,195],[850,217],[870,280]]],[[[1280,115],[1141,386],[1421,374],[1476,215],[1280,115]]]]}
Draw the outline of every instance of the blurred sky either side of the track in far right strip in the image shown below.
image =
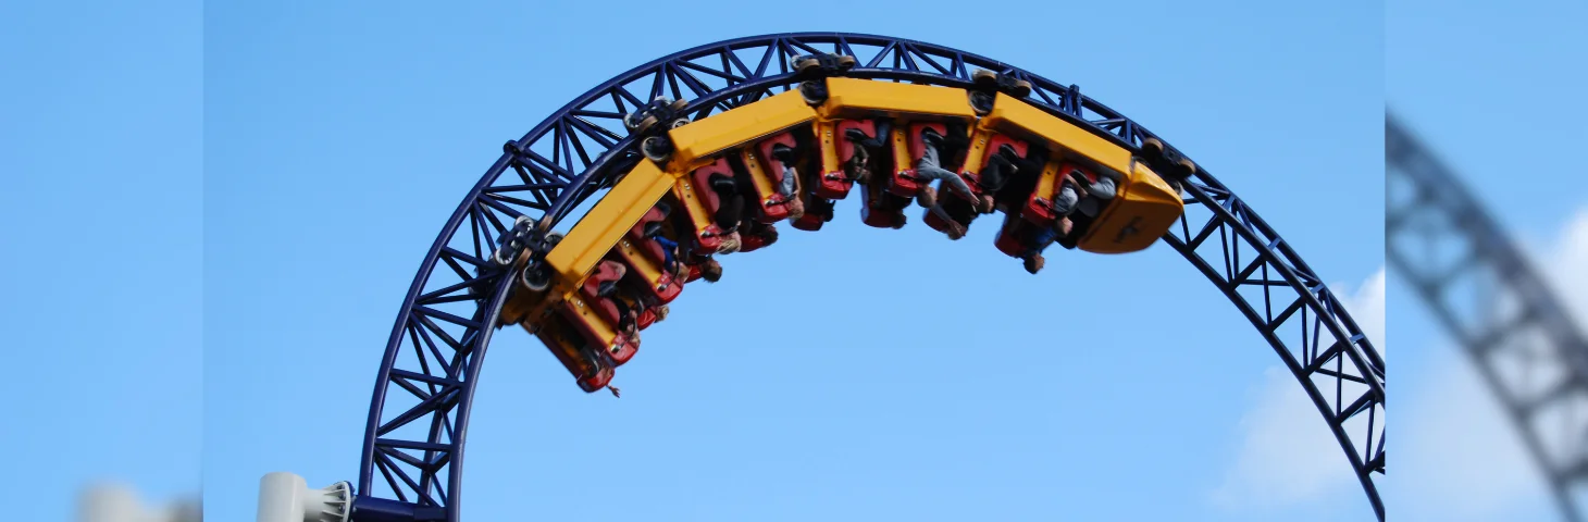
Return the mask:
{"type": "MultiPolygon", "coordinates": [[[[1396,0],[1386,10],[1385,94],[1453,165],[1490,213],[1531,251],[1588,324],[1588,190],[1582,168],[1548,151],[1588,138],[1578,86],[1588,6],[1569,0],[1504,5],[1396,0]],[[1499,184],[1526,179],[1523,189],[1499,184]]],[[[1394,274],[1391,273],[1391,279],[1394,274]]],[[[1410,289],[1391,281],[1396,427],[1391,516],[1416,520],[1553,520],[1553,506],[1518,436],[1470,362],[1410,289]],[[1404,427],[1404,428],[1402,428],[1404,427]]]]}

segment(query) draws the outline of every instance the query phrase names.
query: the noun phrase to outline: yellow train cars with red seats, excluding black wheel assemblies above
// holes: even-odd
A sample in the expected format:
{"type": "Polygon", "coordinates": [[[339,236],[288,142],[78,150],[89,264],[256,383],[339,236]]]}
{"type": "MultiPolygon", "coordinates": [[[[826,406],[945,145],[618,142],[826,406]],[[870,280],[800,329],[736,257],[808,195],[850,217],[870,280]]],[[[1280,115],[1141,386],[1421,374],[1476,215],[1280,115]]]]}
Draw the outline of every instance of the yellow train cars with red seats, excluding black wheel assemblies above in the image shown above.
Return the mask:
{"type": "MultiPolygon", "coordinates": [[[[977,103],[977,108],[986,109],[978,111],[962,89],[853,78],[823,81],[827,98],[815,106],[811,103],[818,100],[789,90],[669,129],[672,152],[656,155],[646,151],[653,160],[643,160],[626,173],[548,252],[549,289],[515,294],[502,311],[503,322],[521,324],[537,335],[586,392],[605,387],[615,368],[638,351],[638,336],[626,333],[619,322],[627,324],[629,313],[637,311],[642,300],[665,305],[678,295],[684,279],[697,276],[684,276],[688,271],[678,268],[684,265],[669,265],[673,252],[662,251],[654,236],[645,233],[646,227],[661,225],[680,243],[699,246],[697,252],[715,251],[724,236],[715,219],[721,202],[711,179],[718,176],[735,179],[735,190],[746,197],[746,203],[754,197],[748,206],[757,208],[754,214],[764,224],[784,219],[796,208],[781,194],[788,168],[799,171],[796,179],[802,194],[796,198],[823,198],[831,205],[831,200],[843,198],[853,184],[843,171],[845,163],[859,162],[856,141],[845,138],[853,130],[865,138],[859,143],[873,151],[865,165],[873,173],[888,171],[886,178],[873,175],[867,181],[862,219],[872,227],[902,227],[902,209],[913,197],[927,194],[923,187],[929,179],[913,173],[924,154],[921,133],[926,129],[943,136],[953,133],[956,140],[969,138],[967,148],[954,148],[959,149],[954,155],[962,157],[942,157],[939,162],[972,186],[991,155],[1004,146],[1029,165],[1042,165],[1024,205],[1000,202],[999,208],[1008,217],[996,243],[1007,255],[1021,255],[1031,243],[1024,238],[1053,225],[1058,216],[1050,205],[1066,182],[1091,186],[1107,178],[1116,186],[1113,197],[1089,200],[1096,211],[1088,211],[1089,219],[1078,221],[1075,232],[1066,238],[1067,246],[1081,251],[1124,254],[1147,249],[1185,213],[1178,190],[1131,149],[1016,97],[997,94],[991,109],[977,103]],[[745,176],[750,182],[743,182],[745,176]],[[745,186],[750,189],[742,189],[745,186]],[[667,202],[670,213],[657,209],[659,202],[667,202]],[[616,281],[637,284],[622,287],[627,294],[619,294],[624,300],[621,311],[618,303],[608,301],[611,297],[602,297],[611,294],[597,290],[602,282],[616,281]]],[[[948,194],[940,197],[954,198],[948,194]]],[[[831,219],[831,206],[827,209],[823,216],[816,205],[807,205],[802,222],[831,219]]],[[[940,225],[946,222],[942,219],[929,214],[926,222],[943,230],[940,225]]],[[[796,227],[815,230],[819,222],[815,228],[810,224],[796,227]]]]}

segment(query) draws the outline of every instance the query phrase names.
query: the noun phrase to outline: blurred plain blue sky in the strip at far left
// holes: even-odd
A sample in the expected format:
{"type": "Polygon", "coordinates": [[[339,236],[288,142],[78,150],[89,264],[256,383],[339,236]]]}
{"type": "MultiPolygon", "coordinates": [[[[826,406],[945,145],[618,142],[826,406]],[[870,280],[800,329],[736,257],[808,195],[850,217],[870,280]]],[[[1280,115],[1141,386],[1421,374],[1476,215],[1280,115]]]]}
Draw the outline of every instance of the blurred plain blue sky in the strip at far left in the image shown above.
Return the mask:
{"type": "Polygon", "coordinates": [[[200,487],[203,41],[197,2],[33,3],[0,3],[0,490],[67,520],[87,481],[200,487]]]}

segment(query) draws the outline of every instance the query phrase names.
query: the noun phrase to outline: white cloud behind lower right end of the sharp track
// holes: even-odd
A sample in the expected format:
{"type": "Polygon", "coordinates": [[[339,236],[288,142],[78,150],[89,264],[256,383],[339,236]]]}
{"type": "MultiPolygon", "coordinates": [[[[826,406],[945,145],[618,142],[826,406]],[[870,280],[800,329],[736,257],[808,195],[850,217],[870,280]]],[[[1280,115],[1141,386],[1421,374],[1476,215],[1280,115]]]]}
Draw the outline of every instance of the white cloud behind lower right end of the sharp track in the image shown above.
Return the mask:
{"type": "MultiPolygon", "coordinates": [[[[1336,292],[1363,333],[1383,352],[1385,270],[1356,292],[1336,292]]],[[[1285,367],[1270,367],[1256,406],[1240,419],[1242,446],[1213,501],[1228,509],[1277,508],[1356,487],[1351,466],[1316,406],[1285,367]]]]}

